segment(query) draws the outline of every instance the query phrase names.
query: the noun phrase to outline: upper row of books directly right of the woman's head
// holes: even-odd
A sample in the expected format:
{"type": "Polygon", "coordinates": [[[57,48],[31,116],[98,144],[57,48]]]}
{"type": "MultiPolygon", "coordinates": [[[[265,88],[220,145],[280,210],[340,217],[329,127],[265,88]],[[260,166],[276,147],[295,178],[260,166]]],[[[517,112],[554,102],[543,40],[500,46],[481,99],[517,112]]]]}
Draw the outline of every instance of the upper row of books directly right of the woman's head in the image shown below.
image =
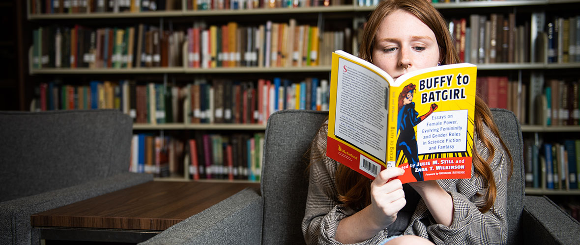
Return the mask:
{"type": "Polygon", "coordinates": [[[580,16],[532,13],[531,22],[516,25],[516,14],[471,14],[449,21],[459,58],[473,64],[580,62],[580,16]],[[531,24],[530,24],[531,23],[531,24]]]}

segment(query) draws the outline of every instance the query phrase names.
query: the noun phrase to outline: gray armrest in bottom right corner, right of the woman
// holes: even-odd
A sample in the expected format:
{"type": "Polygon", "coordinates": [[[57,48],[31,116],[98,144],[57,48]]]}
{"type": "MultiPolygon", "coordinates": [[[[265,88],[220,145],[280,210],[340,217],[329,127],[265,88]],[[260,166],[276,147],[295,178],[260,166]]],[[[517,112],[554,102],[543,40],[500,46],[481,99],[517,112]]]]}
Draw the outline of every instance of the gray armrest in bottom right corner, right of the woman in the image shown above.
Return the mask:
{"type": "Polygon", "coordinates": [[[580,223],[546,196],[524,196],[524,244],[577,244],[580,223]]]}

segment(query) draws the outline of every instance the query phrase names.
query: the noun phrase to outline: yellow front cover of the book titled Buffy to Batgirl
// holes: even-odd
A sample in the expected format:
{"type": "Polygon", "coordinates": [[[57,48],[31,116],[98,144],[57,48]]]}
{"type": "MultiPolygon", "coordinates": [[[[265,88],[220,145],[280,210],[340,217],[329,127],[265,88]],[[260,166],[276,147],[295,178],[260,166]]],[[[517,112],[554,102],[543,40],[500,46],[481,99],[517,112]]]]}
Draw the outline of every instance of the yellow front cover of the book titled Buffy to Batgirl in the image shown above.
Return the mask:
{"type": "Polygon", "coordinates": [[[476,77],[475,65],[442,65],[391,86],[387,163],[403,183],[471,177],[476,77]]]}

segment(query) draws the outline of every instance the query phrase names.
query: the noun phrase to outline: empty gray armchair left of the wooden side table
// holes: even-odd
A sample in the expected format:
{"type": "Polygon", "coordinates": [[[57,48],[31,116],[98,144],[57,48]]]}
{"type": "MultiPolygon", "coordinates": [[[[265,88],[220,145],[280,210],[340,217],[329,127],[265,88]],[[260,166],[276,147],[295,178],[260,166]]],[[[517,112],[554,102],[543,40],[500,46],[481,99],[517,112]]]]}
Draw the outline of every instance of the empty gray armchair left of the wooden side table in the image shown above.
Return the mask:
{"type": "Polygon", "coordinates": [[[0,112],[0,244],[38,244],[30,215],[153,180],[129,173],[118,110],[0,112]]]}

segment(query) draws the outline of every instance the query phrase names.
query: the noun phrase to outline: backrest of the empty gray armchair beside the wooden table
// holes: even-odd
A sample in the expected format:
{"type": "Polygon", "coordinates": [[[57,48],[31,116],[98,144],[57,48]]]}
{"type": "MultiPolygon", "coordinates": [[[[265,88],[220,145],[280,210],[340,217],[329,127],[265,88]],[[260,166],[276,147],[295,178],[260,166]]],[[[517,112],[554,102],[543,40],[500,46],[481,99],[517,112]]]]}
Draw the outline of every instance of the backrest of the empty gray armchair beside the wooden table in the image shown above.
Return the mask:
{"type": "Polygon", "coordinates": [[[132,127],[118,110],[0,112],[0,202],[128,171],[132,127]]]}

